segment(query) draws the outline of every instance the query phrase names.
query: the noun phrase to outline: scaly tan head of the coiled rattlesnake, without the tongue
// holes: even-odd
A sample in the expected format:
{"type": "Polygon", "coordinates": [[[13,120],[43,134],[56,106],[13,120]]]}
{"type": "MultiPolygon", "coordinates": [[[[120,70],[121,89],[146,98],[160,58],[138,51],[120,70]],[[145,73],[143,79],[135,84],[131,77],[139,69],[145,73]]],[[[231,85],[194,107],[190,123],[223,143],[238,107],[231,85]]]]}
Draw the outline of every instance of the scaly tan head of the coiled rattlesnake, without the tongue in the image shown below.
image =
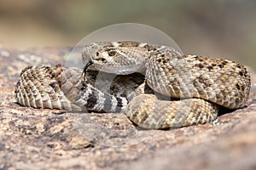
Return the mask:
{"type": "Polygon", "coordinates": [[[83,49],[84,65],[91,62],[90,69],[118,75],[142,72],[148,53],[136,44],[139,42],[91,43],[83,49]]]}

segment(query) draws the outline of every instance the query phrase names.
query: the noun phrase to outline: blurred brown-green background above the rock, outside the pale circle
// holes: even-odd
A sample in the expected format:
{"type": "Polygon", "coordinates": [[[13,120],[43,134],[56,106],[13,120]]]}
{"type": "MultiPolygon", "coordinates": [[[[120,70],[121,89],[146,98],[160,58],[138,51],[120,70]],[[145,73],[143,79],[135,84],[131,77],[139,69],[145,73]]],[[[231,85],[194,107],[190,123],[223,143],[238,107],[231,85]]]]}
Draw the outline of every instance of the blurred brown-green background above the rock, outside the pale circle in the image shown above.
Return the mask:
{"type": "Polygon", "coordinates": [[[256,69],[253,0],[0,0],[4,48],[73,47],[92,31],[124,22],[164,31],[184,54],[224,57],[256,69]]]}

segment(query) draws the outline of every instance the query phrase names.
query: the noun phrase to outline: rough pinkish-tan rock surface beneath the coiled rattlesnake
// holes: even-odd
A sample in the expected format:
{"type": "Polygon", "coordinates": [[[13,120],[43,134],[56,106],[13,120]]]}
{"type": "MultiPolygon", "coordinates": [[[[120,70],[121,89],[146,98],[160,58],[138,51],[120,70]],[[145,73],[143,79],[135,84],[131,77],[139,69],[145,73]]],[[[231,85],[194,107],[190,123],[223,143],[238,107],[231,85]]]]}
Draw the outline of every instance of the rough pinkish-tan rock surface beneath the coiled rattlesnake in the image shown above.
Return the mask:
{"type": "Polygon", "coordinates": [[[135,127],[123,114],[66,113],[15,104],[26,65],[64,63],[69,49],[0,48],[0,169],[255,169],[256,94],[199,126],[135,127]],[[50,62],[49,62],[50,61],[50,62]]]}

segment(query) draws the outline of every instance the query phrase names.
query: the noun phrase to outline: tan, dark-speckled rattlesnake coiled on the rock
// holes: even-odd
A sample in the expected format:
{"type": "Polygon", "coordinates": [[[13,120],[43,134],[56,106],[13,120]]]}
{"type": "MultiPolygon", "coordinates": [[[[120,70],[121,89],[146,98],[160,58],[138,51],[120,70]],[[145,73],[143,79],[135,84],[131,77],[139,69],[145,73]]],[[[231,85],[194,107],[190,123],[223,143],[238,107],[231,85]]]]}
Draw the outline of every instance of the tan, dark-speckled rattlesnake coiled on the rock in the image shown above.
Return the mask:
{"type": "Polygon", "coordinates": [[[82,69],[61,65],[21,71],[17,102],[35,108],[125,112],[146,128],[183,127],[212,122],[218,105],[243,107],[251,86],[241,64],[142,42],[91,43],[82,58],[84,78],[82,69]],[[96,87],[98,71],[103,79],[114,77],[109,89],[96,87]]]}

